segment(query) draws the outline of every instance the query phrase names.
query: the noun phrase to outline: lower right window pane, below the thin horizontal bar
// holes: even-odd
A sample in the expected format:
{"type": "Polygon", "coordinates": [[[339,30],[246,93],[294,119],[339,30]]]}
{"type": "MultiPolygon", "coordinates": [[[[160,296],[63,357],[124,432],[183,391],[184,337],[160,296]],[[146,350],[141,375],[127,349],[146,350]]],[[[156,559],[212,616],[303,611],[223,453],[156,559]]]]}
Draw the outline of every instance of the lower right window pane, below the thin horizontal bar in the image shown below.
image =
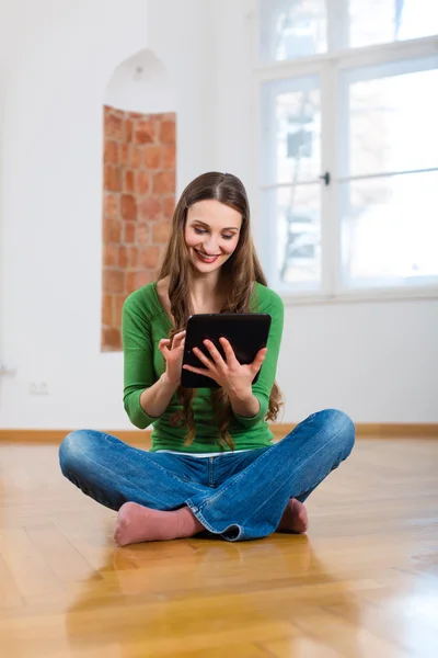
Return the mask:
{"type": "Polygon", "coordinates": [[[438,275],[438,172],[342,188],[344,283],[383,285],[438,275]]]}

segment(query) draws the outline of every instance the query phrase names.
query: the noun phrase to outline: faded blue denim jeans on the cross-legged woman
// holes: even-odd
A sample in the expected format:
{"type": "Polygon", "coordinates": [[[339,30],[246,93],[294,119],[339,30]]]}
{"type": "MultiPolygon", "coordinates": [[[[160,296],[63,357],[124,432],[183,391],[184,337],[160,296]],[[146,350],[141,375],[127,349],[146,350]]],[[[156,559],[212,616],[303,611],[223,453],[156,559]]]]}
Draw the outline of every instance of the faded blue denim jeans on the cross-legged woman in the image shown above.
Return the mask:
{"type": "Polygon", "coordinates": [[[188,506],[211,533],[234,542],[275,532],[290,498],[303,502],[351,452],[355,426],[335,409],[319,411],[268,447],[194,457],[131,447],[77,430],[59,449],[64,475],[97,502],[132,501],[157,510],[188,506]]]}

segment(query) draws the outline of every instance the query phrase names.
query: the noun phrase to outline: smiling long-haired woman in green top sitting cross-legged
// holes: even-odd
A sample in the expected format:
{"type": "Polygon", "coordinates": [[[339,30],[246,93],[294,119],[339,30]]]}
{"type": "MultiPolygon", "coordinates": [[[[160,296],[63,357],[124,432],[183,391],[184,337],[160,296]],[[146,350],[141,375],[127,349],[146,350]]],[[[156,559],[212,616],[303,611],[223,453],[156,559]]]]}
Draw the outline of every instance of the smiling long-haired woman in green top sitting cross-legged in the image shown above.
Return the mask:
{"type": "Polygon", "coordinates": [[[124,305],[124,404],[135,426],[153,424],[151,450],[93,430],[72,432],[60,446],[64,475],[118,510],[118,545],[206,530],[228,541],[306,532],[303,502],[349,455],[355,428],[331,409],[272,443],[283,324],[283,302],[254,251],[243,184],[229,173],[198,177],[176,206],[158,281],[124,305]],[[198,351],[203,367],[189,370],[219,388],[182,388],[187,318],[223,311],[270,314],[267,348],[241,365],[226,340],[226,359],[207,341],[210,358],[198,351]]]}

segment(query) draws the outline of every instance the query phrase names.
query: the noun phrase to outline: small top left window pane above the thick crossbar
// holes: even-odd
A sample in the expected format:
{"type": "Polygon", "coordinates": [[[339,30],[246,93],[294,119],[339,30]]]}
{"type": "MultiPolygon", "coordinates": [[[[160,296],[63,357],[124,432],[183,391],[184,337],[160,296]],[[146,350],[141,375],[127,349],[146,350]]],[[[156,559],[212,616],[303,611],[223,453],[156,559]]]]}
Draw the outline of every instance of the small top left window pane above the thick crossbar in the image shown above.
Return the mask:
{"type": "Polygon", "coordinates": [[[258,0],[264,61],[308,57],[326,50],[325,0],[258,0]]]}

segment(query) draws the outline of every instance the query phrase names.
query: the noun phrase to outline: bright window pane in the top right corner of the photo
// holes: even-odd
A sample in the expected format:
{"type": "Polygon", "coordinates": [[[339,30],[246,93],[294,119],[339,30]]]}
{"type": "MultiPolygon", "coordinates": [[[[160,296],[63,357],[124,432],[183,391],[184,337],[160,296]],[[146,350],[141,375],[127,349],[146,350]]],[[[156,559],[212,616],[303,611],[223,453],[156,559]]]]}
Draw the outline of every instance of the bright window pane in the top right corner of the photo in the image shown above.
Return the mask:
{"type": "Polygon", "coordinates": [[[436,0],[349,0],[351,48],[438,33],[436,0]]]}

